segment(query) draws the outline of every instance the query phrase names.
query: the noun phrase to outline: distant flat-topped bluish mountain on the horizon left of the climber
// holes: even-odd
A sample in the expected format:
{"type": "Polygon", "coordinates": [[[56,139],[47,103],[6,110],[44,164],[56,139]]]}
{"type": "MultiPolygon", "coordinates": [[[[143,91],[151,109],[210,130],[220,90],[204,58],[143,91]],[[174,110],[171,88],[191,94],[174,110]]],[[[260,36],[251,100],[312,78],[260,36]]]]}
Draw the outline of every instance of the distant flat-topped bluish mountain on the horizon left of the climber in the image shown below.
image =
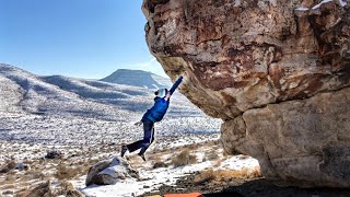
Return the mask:
{"type": "Polygon", "coordinates": [[[163,78],[143,70],[128,69],[119,69],[101,81],[148,89],[168,89],[172,85],[172,82],[168,78],[163,78]]]}

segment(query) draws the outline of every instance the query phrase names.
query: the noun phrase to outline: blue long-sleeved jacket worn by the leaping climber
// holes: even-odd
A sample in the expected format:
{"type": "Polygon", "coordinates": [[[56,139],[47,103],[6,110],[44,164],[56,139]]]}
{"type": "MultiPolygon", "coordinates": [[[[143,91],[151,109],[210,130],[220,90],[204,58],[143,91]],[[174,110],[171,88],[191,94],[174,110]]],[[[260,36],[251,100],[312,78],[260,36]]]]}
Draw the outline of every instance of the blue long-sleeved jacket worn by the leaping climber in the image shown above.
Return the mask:
{"type": "MultiPolygon", "coordinates": [[[[183,77],[179,77],[170,90],[171,94],[175,92],[175,90],[182,83],[182,81],[183,77]]],[[[154,105],[150,109],[148,109],[147,113],[143,115],[142,121],[145,118],[152,120],[153,123],[162,120],[168,108],[168,104],[170,101],[165,101],[164,97],[155,97],[154,105]]]]}

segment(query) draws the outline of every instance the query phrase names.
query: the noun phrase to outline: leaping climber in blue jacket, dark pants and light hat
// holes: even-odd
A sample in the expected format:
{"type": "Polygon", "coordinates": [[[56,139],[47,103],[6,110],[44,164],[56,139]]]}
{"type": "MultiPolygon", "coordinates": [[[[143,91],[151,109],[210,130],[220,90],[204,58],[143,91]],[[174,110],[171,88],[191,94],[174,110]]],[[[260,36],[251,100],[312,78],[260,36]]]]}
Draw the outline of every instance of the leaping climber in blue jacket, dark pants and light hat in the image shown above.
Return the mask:
{"type": "Polygon", "coordinates": [[[163,119],[168,108],[170,99],[182,81],[183,77],[179,77],[170,91],[167,89],[160,89],[155,92],[154,105],[144,113],[140,121],[135,124],[136,126],[143,124],[143,139],[121,146],[121,158],[127,151],[133,152],[141,149],[138,154],[145,161],[144,152],[154,140],[154,123],[163,119]]]}

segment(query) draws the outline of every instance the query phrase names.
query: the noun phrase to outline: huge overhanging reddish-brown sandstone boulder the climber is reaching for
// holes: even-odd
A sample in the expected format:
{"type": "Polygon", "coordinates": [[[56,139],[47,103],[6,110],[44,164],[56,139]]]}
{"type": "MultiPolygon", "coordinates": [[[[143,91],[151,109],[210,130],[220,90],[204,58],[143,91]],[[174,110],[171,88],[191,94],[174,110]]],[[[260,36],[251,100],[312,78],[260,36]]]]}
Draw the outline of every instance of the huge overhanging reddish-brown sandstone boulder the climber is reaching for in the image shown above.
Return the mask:
{"type": "Polygon", "coordinates": [[[343,0],[144,0],[150,51],[222,118],[265,176],[350,187],[350,8],[343,0]],[[348,111],[347,111],[348,109],[348,111]]]}

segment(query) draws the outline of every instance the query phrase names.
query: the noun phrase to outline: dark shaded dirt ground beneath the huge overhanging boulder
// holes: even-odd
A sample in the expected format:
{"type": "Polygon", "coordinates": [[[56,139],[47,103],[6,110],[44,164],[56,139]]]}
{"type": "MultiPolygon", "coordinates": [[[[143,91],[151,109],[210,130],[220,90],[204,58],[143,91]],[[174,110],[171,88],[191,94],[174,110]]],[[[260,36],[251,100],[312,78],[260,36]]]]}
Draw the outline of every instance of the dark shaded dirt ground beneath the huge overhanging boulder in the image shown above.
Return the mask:
{"type": "Polygon", "coordinates": [[[205,182],[198,185],[194,184],[194,178],[195,175],[187,175],[178,179],[176,186],[163,185],[159,192],[143,196],[196,192],[206,197],[350,197],[350,189],[278,187],[265,178],[234,178],[225,183],[205,182]]]}

